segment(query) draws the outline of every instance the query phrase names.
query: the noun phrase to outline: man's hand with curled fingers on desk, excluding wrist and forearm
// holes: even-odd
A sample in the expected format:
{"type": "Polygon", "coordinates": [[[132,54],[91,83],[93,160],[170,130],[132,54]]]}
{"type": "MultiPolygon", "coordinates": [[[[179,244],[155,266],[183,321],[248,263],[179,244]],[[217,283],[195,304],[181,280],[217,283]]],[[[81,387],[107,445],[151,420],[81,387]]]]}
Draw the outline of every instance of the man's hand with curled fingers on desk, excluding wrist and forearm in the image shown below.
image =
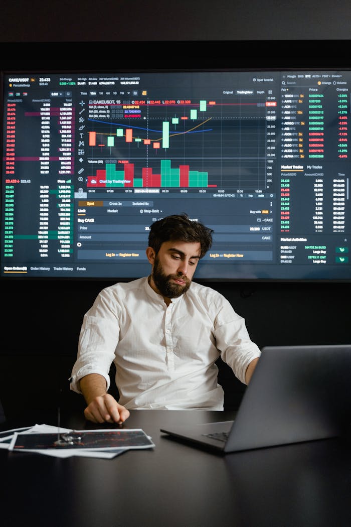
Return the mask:
{"type": "Polygon", "coordinates": [[[88,404],[84,416],[93,423],[123,423],[129,417],[127,408],[110,395],[99,395],[88,404]]]}

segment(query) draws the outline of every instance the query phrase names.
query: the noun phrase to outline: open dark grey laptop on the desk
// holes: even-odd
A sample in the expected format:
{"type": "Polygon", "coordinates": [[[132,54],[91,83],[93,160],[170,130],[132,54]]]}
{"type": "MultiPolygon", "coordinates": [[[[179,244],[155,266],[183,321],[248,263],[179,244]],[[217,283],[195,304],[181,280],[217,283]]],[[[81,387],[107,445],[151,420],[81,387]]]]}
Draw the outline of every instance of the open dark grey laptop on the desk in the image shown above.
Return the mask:
{"type": "Polygon", "coordinates": [[[167,426],[173,438],[236,452],[344,434],[351,345],[265,347],[234,421],[167,426]]]}

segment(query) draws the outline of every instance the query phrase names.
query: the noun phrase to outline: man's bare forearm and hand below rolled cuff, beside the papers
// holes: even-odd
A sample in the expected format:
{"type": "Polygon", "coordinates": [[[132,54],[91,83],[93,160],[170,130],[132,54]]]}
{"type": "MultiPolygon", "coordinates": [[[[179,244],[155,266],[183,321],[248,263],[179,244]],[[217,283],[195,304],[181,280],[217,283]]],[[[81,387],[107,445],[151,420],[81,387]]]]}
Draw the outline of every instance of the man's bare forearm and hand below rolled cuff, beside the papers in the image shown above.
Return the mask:
{"type": "Polygon", "coordinates": [[[92,373],[80,380],[86,404],[84,416],[93,423],[123,423],[129,417],[129,410],[118,404],[106,392],[106,380],[102,375],[92,373]]]}

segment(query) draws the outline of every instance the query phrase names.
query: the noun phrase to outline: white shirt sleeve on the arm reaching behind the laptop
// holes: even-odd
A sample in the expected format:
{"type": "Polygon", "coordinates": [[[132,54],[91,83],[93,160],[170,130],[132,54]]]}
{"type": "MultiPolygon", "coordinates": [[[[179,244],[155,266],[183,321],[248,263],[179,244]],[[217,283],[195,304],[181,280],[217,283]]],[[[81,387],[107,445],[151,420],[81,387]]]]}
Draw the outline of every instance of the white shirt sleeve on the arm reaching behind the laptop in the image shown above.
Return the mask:
{"type": "Polygon", "coordinates": [[[260,357],[261,352],[249,337],[245,319],[235,313],[225,298],[217,313],[215,337],[222,360],[232,368],[240,382],[246,384],[247,366],[253,359],[260,357]]]}

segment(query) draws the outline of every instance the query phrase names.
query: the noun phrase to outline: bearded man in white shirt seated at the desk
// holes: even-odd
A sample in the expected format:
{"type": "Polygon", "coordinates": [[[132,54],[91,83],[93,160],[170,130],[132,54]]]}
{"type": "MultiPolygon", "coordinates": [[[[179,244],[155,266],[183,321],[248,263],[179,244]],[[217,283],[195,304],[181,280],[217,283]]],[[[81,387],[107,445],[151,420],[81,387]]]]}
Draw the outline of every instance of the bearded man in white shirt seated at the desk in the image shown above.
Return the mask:
{"type": "Polygon", "coordinates": [[[123,423],[130,409],[223,410],[216,360],[248,384],[260,350],[228,300],[193,276],[213,230],[174,214],[152,224],[151,275],[106,287],[84,316],[71,389],[85,418],[123,423]],[[108,393],[116,366],[119,399],[108,393]]]}

